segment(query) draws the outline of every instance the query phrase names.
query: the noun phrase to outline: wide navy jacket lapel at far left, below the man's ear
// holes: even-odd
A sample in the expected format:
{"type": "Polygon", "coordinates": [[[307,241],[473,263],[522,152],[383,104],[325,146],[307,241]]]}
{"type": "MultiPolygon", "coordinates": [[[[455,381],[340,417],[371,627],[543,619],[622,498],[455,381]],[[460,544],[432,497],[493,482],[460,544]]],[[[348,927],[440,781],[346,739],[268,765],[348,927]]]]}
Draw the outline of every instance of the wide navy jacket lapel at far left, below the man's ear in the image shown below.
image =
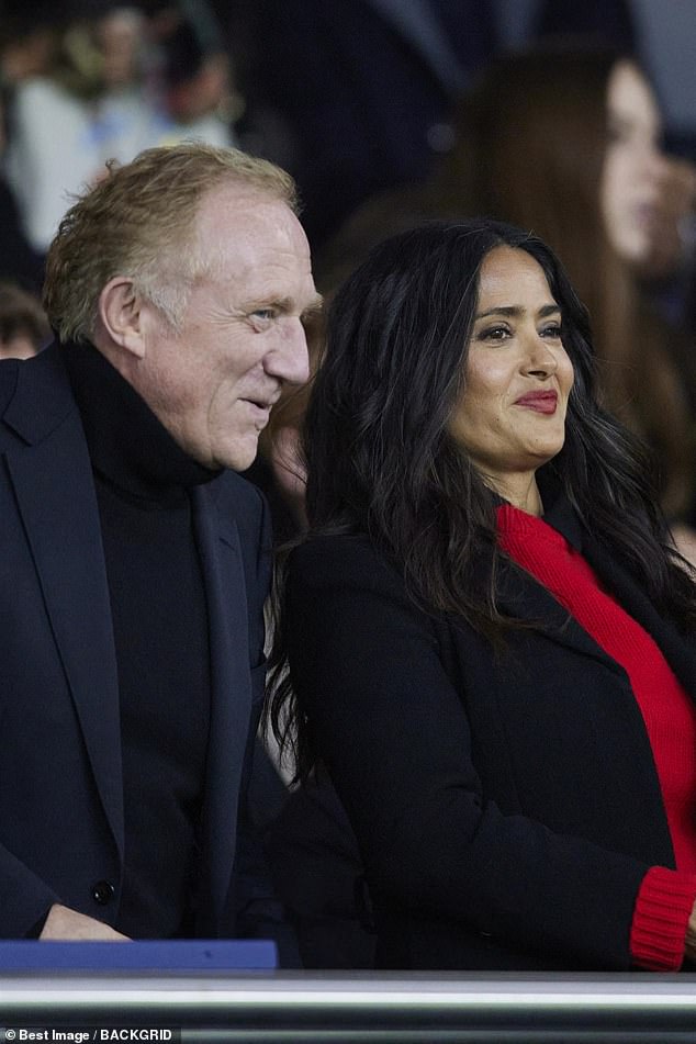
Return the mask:
{"type": "Polygon", "coordinates": [[[104,812],[123,858],[119,687],[87,445],[59,353],[19,368],[5,454],[46,611],[104,812]]]}

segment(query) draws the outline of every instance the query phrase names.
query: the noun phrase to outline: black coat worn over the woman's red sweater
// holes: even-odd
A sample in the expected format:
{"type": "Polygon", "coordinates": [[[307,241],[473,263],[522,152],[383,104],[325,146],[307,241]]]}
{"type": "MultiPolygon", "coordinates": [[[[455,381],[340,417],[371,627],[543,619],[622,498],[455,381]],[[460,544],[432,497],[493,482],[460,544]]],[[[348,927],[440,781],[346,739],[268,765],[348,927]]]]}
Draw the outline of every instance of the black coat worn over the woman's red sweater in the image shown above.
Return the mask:
{"type": "MultiPolygon", "coordinates": [[[[587,534],[583,553],[696,695],[693,642],[587,534]]],[[[626,970],[641,880],[674,866],[641,712],[625,671],[512,563],[501,599],[546,626],[496,656],[418,610],[367,538],[291,558],[292,682],[358,838],[378,962],[626,970]]]]}

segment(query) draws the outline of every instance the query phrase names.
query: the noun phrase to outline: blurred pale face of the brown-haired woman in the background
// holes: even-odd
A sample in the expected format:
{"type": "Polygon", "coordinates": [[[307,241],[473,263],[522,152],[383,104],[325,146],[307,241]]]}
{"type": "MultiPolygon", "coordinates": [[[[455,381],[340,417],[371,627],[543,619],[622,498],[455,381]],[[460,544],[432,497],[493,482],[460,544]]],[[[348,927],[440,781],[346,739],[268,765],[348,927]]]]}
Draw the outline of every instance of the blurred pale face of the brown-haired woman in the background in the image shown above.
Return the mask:
{"type": "Polygon", "coordinates": [[[608,144],[600,186],[606,234],[629,265],[650,260],[661,235],[669,161],[654,94],[630,61],[615,65],[607,87],[608,144]]]}

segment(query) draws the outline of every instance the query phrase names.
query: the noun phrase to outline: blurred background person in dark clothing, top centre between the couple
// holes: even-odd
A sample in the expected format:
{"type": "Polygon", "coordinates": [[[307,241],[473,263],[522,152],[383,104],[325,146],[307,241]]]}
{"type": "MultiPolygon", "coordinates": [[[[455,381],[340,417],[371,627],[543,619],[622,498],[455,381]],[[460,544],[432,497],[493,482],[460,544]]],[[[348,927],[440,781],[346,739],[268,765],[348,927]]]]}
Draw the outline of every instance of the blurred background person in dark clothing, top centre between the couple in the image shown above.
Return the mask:
{"type": "Polygon", "coordinates": [[[495,49],[491,0],[260,0],[246,82],[288,132],[318,247],[362,200],[425,178],[495,49]]]}

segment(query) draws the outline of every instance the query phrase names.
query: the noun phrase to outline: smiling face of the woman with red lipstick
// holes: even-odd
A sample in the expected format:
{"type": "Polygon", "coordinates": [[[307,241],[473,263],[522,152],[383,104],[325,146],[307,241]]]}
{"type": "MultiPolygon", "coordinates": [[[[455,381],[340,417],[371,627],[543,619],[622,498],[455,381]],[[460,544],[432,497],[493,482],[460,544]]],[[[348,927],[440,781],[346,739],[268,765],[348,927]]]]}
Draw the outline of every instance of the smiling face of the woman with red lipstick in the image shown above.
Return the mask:
{"type": "MultiPolygon", "coordinates": [[[[573,364],[541,266],[499,246],[485,258],[464,392],[450,433],[486,483],[513,503],[565,438],[573,364]]],[[[521,506],[521,504],[520,504],[521,506]]]]}

